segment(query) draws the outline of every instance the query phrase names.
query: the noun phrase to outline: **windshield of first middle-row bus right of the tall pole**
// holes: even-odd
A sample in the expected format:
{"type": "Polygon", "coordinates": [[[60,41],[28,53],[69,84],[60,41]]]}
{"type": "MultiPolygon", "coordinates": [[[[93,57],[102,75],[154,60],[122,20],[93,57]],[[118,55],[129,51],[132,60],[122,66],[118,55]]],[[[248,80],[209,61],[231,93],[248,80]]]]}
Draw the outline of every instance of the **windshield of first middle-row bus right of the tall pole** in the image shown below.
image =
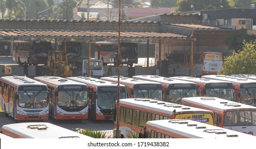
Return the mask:
{"type": "Polygon", "coordinates": [[[163,101],[162,89],[136,89],[134,90],[134,97],[150,98],[158,101],[163,101]]]}

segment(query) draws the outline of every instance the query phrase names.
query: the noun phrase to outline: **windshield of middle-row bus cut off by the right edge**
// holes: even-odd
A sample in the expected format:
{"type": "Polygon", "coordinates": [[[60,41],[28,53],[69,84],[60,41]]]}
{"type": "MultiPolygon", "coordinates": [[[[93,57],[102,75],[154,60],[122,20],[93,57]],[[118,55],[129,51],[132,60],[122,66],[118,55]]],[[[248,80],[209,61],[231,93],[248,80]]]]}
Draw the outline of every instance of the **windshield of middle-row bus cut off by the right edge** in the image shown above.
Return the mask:
{"type": "Polygon", "coordinates": [[[256,104],[256,89],[241,89],[240,90],[240,103],[256,104]]]}

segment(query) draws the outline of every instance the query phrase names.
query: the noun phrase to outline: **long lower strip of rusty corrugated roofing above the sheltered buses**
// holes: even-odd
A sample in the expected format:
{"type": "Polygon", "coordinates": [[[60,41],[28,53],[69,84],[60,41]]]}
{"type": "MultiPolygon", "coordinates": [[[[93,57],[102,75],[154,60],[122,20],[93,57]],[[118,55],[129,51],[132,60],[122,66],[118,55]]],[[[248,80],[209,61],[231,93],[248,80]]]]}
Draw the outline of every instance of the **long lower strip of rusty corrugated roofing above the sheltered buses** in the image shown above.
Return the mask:
{"type": "MultiPolygon", "coordinates": [[[[121,38],[132,39],[186,39],[187,36],[170,32],[121,31],[121,38]]],[[[118,38],[117,31],[82,30],[0,30],[0,37],[42,37],[42,38],[118,38]]]]}

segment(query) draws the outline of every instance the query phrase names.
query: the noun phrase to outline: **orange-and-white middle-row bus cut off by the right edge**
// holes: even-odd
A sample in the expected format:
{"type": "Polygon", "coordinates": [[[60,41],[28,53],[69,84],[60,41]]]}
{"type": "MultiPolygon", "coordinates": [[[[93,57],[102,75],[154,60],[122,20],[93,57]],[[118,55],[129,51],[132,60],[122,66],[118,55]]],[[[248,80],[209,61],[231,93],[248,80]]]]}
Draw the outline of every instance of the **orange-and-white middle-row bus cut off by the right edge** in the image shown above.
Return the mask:
{"type": "Polygon", "coordinates": [[[256,80],[225,75],[206,75],[202,78],[230,81],[235,89],[235,102],[256,106],[256,80]]]}

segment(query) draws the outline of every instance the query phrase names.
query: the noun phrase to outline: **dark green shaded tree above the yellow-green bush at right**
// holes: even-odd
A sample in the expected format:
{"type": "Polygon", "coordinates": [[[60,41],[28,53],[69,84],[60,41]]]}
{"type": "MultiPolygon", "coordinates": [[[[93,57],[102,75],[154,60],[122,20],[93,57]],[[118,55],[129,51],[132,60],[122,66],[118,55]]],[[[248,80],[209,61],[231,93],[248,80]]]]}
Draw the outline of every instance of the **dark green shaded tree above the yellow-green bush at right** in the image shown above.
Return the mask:
{"type": "Polygon", "coordinates": [[[250,40],[254,39],[256,39],[255,35],[248,35],[247,30],[242,28],[229,34],[224,43],[229,46],[229,49],[234,49],[238,52],[239,49],[242,49],[244,41],[250,42],[250,40]]]}

